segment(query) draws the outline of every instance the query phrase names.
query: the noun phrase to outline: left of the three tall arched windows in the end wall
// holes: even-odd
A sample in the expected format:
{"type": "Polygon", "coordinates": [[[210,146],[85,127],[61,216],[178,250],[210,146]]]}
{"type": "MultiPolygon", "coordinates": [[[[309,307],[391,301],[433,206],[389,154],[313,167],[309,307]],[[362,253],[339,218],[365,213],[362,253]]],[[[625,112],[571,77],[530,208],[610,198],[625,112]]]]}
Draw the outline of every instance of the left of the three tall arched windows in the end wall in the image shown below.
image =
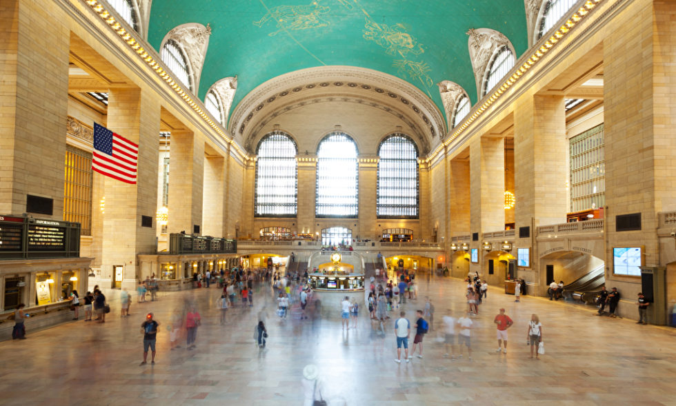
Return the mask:
{"type": "Polygon", "coordinates": [[[296,143],[281,131],[271,132],[258,143],[254,216],[296,216],[297,153],[296,143]]]}

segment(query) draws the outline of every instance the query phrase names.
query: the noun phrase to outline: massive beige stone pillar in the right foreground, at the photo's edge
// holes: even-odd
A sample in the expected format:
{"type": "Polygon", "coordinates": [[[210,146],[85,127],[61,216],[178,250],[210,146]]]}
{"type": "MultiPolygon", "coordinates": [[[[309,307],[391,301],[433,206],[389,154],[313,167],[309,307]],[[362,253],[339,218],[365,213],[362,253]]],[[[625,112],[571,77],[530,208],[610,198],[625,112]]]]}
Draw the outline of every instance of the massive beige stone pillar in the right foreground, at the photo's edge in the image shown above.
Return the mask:
{"type": "MultiPolygon", "coordinates": [[[[628,15],[629,29],[604,39],[606,283],[633,301],[641,285],[613,274],[613,247],[643,245],[644,265],[667,265],[660,263],[657,214],[676,210],[676,10],[672,1],[644,1],[628,15]],[[639,214],[640,230],[617,231],[622,214],[639,214]]],[[[619,314],[638,316],[623,302],[619,314]]]]}

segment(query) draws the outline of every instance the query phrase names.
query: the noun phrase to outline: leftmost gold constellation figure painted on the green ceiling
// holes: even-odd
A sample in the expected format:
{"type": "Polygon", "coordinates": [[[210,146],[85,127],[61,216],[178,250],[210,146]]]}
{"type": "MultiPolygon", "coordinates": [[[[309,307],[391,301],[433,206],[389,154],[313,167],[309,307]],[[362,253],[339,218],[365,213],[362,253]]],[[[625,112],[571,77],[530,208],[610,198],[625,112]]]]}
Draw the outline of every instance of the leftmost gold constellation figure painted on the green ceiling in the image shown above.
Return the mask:
{"type": "Polygon", "coordinates": [[[320,28],[330,26],[330,22],[320,17],[320,14],[326,14],[331,9],[326,6],[319,6],[313,2],[308,6],[277,6],[268,11],[259,21],[254,21],[254,25],[262,27],[271,19],[277,21],[279,30],[270,32],[270,37],[275,37],[281,31],[285,30],[308,30],[310,28],[320,28]]]}

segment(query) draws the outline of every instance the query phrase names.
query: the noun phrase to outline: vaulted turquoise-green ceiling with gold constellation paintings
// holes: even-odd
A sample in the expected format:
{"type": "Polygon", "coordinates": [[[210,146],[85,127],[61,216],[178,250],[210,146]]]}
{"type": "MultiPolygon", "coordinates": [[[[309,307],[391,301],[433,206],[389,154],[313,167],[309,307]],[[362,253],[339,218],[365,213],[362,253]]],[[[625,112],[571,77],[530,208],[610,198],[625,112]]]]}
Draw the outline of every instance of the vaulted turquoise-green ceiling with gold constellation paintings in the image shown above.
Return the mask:
{"type": "Polygon", "coordinates": [[[157,0],[148,41],[184,23],[212,32],[197,95],[237,75],[237,103],[261,83],[321,65],[370,68],[417,86],[444,111],[437,83],[477,90],[466,34],[491,28],[528,48],[524,0],[157,0]]]}

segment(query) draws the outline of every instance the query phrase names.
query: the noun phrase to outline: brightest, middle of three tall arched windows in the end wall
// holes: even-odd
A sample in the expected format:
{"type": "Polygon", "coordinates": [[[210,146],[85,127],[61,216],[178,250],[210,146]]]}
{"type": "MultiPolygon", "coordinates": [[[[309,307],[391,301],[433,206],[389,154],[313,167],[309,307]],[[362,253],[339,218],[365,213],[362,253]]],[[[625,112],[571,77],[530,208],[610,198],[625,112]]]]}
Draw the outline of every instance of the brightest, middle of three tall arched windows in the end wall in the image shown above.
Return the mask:
{"type": "Polygon", "coordinates": [[[317,217],[357,217],[357,144],[334,132],[317,148],[317,217]]]}

